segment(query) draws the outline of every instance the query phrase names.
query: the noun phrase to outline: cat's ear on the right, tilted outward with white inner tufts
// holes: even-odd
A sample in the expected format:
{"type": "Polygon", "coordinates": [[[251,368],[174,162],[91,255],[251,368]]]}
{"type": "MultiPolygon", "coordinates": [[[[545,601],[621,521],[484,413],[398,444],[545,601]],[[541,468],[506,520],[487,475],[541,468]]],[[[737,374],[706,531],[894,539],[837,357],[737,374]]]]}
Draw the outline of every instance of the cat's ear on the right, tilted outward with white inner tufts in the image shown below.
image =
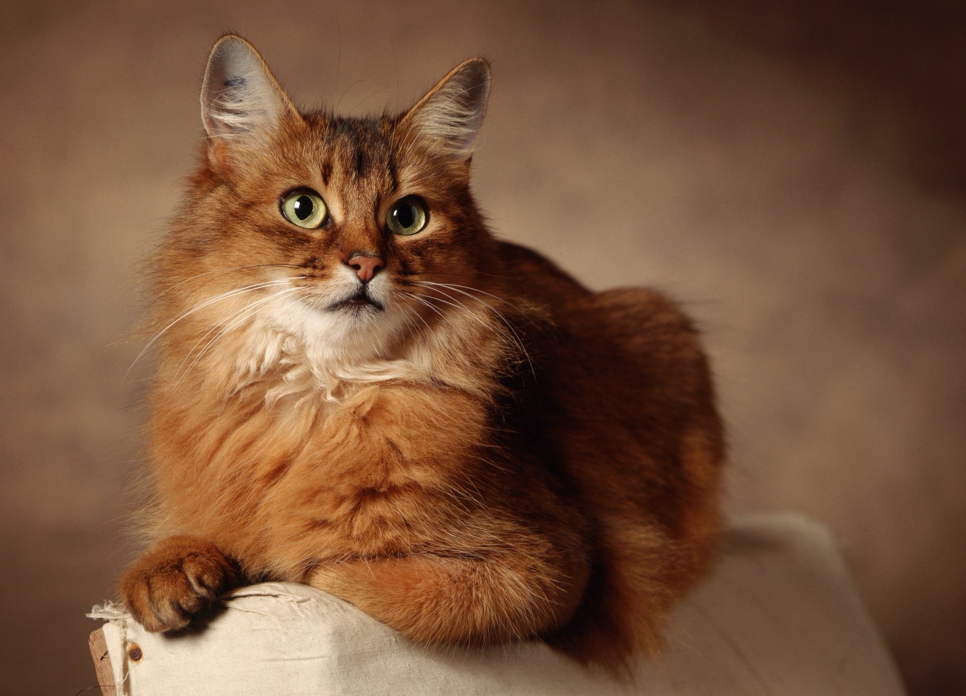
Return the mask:
{"type": "Polygon", "coordinates": [[[490,64],[482,58],[470,58],[419,99],[400,126],[430,150],[468,162],[476,148],[489,97],[490,64]]]}

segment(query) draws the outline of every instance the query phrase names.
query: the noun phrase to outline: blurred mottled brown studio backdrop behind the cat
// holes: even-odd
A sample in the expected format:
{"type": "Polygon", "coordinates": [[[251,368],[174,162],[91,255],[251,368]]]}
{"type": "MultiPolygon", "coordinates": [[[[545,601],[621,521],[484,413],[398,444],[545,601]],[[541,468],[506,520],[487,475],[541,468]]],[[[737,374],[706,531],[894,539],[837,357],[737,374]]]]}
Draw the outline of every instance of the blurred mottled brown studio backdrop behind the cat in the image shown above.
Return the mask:
{"type": "Polygon", "coordinates": [[[966,11],[765,0],[11,2],[0,10],[0,691],[95,683],[133,553],[136,262],[234,30],[303,105],[402,108],[492,59],[497,232],[700,320],[730,508],[845,540],[914,694],[966,692],[966,11]]]}

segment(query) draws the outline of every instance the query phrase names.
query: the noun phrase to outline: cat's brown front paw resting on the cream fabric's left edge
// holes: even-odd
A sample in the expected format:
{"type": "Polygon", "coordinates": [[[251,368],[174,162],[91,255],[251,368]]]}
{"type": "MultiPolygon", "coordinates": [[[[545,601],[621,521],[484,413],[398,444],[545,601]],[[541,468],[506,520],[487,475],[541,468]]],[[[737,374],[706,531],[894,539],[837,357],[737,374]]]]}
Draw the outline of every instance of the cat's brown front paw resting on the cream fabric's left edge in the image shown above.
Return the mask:
{"type": "Polygon", "coordinates": [[[122,599],[148,630],[174,630],[239,584],[235,566],[213,543],[169,537],[156,543],[121,578],[122,599]]]}

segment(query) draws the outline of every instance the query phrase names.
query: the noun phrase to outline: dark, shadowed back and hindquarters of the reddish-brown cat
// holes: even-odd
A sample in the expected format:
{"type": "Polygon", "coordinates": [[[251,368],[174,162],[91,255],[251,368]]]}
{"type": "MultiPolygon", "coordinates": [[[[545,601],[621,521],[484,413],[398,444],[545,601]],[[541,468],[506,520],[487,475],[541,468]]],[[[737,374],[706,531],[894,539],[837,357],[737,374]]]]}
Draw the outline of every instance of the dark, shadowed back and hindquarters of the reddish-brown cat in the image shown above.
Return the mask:
{"type": "Polygon", "coordinates": [[[590,292],[539,254],[503,253],[520,275],[513,290],[552,324],[529,334],[540,369],[527,438],[564,472],[594,530],[591,585],[558,644],[603,663],[614,640],[653,649],[721,524],[725,440],[698,332],[661,292],[590,292]]]}

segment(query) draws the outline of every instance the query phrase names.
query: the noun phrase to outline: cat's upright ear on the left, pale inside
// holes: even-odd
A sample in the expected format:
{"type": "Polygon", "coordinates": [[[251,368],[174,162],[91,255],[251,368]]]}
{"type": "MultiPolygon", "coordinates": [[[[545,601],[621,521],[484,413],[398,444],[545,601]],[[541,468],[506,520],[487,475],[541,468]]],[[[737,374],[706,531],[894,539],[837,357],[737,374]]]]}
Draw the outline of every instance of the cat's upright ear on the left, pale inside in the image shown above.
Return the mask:
{"type": "Polygon", "coordinates": [[[201,88],[201,119],[210,143],[264,142],[289,116],[301,119],[255,46],[234,34],[221,37],[201,88]]]}

